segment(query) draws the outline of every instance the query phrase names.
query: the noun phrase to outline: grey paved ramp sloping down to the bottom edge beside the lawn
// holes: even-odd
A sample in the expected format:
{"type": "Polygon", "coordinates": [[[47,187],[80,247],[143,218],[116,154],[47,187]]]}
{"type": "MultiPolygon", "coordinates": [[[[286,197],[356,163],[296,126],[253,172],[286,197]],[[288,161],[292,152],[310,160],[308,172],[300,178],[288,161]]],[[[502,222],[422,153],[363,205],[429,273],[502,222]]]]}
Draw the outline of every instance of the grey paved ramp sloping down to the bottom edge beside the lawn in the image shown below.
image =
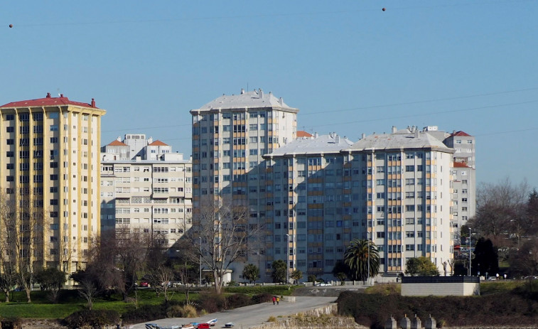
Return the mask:
{"type": "MultiPolygon", "coordinates": [[[[284,297],[285,299],[285,297],[284,297]]],[[[279,315],[290,315],[308,311],[313,308],[326,306],[336,301],[335,297],[295,297],[295,302],[281,301],[279,305],[273,305],[272,302],[235,308],[230,311],[222,311],[218,313],[210,313],[200,318],[166,318],[154,320],[151,323],[156,323],[161,327],[171,327],[172,325],[182,325],[191,322],[203,323],[217,318],[218,323],[213,328],[222,328],[225,323],[235,323],[236,329],[247,329],[255,325],[261,325],[267,322],[269,316],[278,317],[279,315]]],[[[147,323],[147,322],[146,322],[147,323]]],[[[142,329],[145,323],[139,323],[133,326],[133,329],[142,329]]]]}

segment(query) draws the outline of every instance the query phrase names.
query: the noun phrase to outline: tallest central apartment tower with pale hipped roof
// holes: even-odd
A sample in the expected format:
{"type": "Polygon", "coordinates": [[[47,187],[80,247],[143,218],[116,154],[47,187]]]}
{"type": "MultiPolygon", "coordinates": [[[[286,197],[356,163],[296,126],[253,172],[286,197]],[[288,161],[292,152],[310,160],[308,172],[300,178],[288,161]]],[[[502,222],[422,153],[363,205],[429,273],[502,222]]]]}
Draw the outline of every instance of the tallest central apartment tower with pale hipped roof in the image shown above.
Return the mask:
{"type": "MultiPolygon", "coordinates": [[[[262,156],[296,138],[298,109],[262,90],[222,95],[193,116],[193,211],[205,200],[249,207],[250,225],[266,220],[266,169],[262,156]]],[[[245,264],[265,264],[263,239],[248,259],[232,264],[239,280],[245,264]],[[247,262],[248,261],[248,262],[247,262]]],[[[265,279],[265,278],[264,278],[265,279]]]]}

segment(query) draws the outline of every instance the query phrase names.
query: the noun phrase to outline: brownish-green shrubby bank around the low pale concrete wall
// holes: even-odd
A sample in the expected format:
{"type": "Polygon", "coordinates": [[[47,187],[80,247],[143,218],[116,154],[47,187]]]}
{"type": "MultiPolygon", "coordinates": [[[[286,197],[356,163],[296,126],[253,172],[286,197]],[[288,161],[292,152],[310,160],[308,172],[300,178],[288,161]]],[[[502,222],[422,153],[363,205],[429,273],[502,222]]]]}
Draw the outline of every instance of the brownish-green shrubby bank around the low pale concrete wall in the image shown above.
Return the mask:
{"type": "Polygon", "coordinates": [[[537,282],[532,290],[525,281],[506,280],[480,284],[482,296],[406,297],[397,285],[381,284],[367,293],[345,291],[338,298],[340,315],[353,316],[360,325],[384,328],[389,315],[399,320],[416,314],[431,315],[448,326],[532,326],[538,323],[537,282]]]}

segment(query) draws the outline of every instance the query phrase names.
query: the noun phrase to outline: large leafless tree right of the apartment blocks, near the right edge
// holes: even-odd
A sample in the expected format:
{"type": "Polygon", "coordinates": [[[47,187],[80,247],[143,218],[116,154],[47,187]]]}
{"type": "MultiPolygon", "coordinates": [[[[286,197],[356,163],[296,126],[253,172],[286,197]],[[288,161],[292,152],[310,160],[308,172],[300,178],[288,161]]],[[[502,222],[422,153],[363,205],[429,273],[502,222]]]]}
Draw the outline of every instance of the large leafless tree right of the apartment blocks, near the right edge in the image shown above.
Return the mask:
{"type": "Polygon", "coordinates": [[[483,183],[477,190],[477,210],[468,225],[497,247],[505,245],[506,237],[517,239],[529,226],[526,214],[529,185],[526,181],[513,185],[509,178],[497,184],[483,183]]]}

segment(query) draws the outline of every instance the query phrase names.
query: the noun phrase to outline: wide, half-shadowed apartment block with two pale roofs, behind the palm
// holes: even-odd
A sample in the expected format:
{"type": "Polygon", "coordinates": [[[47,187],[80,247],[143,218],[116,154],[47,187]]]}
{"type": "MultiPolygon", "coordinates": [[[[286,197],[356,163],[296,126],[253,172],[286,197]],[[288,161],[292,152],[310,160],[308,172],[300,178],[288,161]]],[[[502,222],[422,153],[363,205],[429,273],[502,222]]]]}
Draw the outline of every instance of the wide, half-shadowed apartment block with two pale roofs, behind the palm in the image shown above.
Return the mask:
{"type": "Polygon", "coordinates": [[[370,239],[383,275],[405,271],[406,259],[420,256],[443,273],[453,251],[453,149],[415,128],[351,144],[336,134],[315,136],[265,156],[267,268],[287,259],[290,271],[334,279],[350,240],[370,239]]]}

